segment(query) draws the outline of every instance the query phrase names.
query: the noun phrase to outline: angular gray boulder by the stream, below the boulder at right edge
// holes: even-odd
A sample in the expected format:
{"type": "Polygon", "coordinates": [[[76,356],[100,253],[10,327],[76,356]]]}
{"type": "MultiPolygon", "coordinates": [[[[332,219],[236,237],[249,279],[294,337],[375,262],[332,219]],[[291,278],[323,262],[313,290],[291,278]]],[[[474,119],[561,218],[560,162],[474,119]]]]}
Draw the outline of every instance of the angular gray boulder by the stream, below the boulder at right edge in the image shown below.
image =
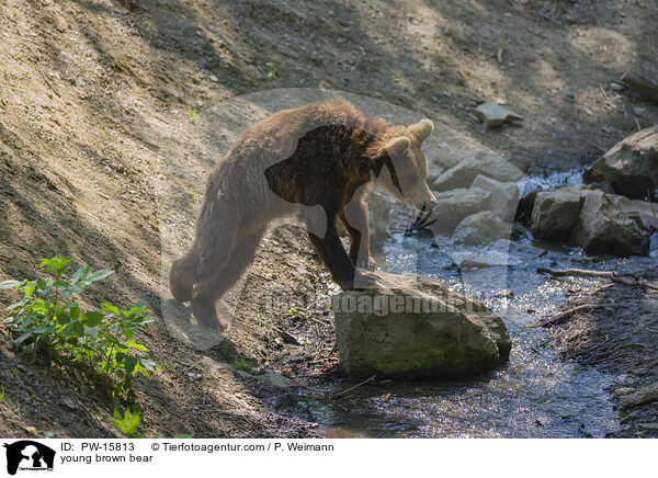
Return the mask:
{"type": "Polygon", "coordinates": [[[571,242],[588,253],[647,255],[649,230],[628,203],[625,197],[600,191],[587,194],[571,242]]]}

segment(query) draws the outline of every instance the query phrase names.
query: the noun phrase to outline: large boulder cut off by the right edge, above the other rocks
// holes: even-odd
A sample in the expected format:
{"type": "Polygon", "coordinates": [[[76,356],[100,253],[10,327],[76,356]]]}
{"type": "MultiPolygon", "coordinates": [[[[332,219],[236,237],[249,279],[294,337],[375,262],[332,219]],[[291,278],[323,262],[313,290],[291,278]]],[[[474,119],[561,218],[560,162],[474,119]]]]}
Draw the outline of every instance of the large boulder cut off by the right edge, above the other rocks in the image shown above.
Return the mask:
{"type": "Polygon", "coordinates": [[[617,194],[642,200],[658,187],[658,125],[643,129],[614,145],[599,158],[583,179],[609,181],[617,194]]]}

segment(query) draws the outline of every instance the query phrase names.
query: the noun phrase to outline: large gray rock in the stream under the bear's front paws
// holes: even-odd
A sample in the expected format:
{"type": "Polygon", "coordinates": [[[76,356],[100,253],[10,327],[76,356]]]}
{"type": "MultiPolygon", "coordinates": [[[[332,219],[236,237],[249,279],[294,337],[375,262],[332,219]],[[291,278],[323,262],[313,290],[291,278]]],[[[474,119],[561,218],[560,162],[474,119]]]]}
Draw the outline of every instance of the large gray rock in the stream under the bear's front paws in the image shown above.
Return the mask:
{"type": "Polygon", "coordinates": [[[373,273],[373,287],[333,297],[336,341],[352,376],[468,377],[509,358],[500,317],[416,274],[373,273]]]}

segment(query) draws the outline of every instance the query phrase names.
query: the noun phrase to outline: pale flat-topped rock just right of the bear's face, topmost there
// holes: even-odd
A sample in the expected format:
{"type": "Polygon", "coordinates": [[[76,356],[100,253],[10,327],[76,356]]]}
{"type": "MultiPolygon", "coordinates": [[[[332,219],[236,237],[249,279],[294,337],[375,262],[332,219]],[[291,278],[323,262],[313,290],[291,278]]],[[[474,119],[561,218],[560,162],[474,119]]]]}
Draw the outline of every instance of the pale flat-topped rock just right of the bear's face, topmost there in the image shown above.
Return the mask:
{"type": "Polygon", "coordinates": [[[444,171],[433,183],[432,190],[442,192],[455,187],[468,187],[479,174],[500,182],[517,182],[524,172],[502,156],[477,151],[444,171]]]}

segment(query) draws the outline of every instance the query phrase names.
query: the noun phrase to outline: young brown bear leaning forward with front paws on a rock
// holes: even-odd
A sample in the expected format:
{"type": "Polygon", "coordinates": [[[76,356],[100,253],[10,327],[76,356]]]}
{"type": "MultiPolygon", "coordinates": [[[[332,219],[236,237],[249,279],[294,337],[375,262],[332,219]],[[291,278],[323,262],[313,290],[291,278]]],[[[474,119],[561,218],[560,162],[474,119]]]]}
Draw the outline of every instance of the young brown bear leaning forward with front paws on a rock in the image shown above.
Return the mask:
{"type": "Polygon", "coordinates": [[[356,268],[374,266],[364,203],[370,183],[419,210],[436,203],[421,150],[433,128],[429,120],[389,126],[342,99],[281,111],[254,124],[208,179],[194,242],[171,266],[173,297],[191,300],[201,323],[225,328],[215,303],[245,272],[268,225],[284,215],[306,224],[337,284],[358,287],[364,274],[356,268]],[[337,220],[350,236],[349,252],[337,220]]]}

